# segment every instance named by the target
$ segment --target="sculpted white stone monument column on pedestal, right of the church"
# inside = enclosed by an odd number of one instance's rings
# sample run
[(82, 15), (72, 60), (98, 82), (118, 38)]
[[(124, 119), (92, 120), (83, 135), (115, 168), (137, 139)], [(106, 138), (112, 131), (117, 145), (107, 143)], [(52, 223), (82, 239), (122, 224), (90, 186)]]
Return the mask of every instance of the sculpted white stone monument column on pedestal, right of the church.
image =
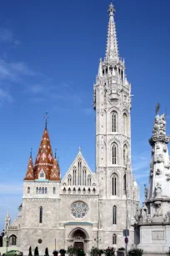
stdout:
[[(168, 252), (170, 247), (170, 156), (166, 134), (165, 114), (159, 115), (159, 105), (153, 125), (153, 136), (148, 188), (145, 186), (145, 202), (138, 209), (136, 219), (140, 228), (140, 244), (145, 252)], [(160, 255), (160, 254), (159, 254)]]

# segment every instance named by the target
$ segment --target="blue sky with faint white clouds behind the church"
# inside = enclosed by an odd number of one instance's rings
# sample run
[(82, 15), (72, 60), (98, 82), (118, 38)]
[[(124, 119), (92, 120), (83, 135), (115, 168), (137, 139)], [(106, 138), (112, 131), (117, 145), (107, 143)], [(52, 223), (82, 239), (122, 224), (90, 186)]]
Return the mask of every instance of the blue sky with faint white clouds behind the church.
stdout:
[[(3, 1), (0, 8), (0, 230), (17, 217), (30, 148), (35, 159), (48, 112), (62, 177), (78, 146), (95, 166), (92, 87), (107, 39), (108, 0)], [(148, 182), (155, 105), (170, 134), (170, 1), (114, 1), (120, 56), (133, 88), (133, 171)]]

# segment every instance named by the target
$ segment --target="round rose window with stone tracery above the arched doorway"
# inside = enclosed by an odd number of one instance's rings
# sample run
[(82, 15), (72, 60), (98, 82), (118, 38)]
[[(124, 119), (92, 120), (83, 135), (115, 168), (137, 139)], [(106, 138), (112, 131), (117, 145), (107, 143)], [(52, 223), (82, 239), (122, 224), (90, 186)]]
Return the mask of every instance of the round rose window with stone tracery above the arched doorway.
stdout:
[(71, 212), (75, 218), (83, 218), (87, 214), (87, 204), (85, 202), (73, 202)]

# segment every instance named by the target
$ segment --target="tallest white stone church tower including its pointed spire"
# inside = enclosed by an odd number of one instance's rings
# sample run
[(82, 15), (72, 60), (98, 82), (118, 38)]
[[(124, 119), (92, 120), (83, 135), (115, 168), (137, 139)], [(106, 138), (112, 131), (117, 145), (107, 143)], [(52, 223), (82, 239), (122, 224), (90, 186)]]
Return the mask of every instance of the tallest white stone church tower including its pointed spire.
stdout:
[(96, 173), (100, 184), (99, 228), (101, 235), (104, 229), (110, 231), (103, 246), (112, 243), (124, 245), (122, 230), (131, 228), (135, 208), (139, 203), (138, 185), (131, 167), (131, 84), (126, 78), (124, 60), (118, 54), (114, 12), (111, 3), (108, 9), (106, 55), (103, 61), (100, 59), (93, 89)]

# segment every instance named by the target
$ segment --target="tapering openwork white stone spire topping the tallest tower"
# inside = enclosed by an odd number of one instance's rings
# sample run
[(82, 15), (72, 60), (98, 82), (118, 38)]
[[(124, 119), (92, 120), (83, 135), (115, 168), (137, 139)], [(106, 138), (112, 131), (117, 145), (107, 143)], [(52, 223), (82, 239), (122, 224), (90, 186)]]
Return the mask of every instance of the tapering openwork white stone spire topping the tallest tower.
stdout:
[(109, 22), (108, 22), (108, 29), (107, 29), (107, 49), (106, 49), (105, 60), (107, 62), (110, 62), (113, 59), (118, 58), (117, 32), (116, 32), (116, 25), (114, 23), (115, 9), (112, 3), (110, 3), (109, 5), (108, 12), (109, 12)]

